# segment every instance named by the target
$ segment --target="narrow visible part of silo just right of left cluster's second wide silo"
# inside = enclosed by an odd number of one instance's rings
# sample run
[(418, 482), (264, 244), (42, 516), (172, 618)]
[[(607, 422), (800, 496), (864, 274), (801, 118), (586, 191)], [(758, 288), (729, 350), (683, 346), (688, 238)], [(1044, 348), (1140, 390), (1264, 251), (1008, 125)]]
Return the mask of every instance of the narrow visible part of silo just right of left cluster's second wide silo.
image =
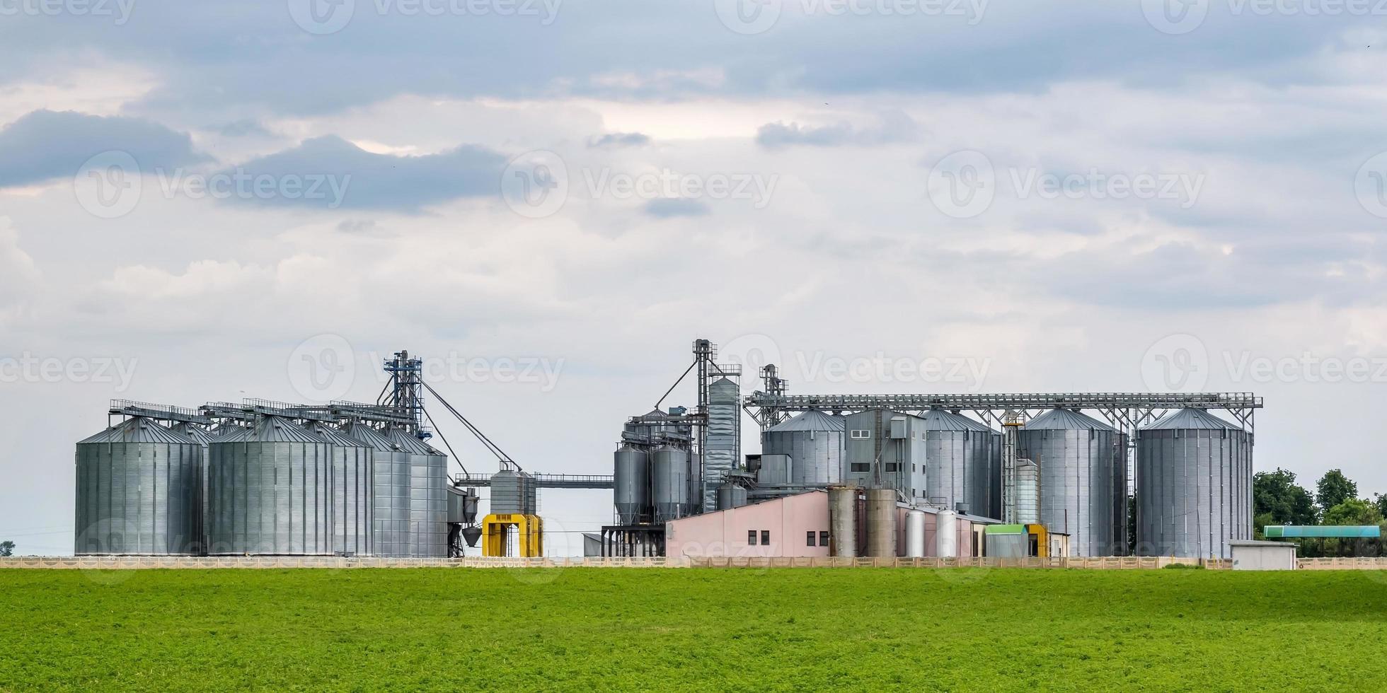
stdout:
[(323, 423), (309, 424), (307, 428), (331, 445), (333, 495), (329, 514), (333, 523), (333, 553), (373, 556), (376, 553), (374, 450), (368, 444)]

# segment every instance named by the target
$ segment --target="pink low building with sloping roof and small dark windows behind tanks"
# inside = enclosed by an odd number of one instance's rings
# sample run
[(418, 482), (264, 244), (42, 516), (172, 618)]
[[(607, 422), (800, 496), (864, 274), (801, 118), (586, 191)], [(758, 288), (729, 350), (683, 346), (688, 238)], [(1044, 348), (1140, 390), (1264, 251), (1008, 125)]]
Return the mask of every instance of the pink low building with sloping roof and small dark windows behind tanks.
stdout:
[[(935, 556), (936, 509), (921, 507), (925, 513), (925, 556)], [(908, 507), (897, 507), (896, 554), (906, 554), (906, 514)], [(857, 517), (857, 546), (867, 546), (865, 513)], [(958, 516), (958, 556), (981, 553), (985, 518)], [(829, 523), (828, 492), (810, 491), (795, 496), (671, 520), (664, 525), (664, 554), (674, 556), (732, 556), (732, 557), (813, 557), (828, 556)], [(861, 549), (859, 554), (864, 556)]]

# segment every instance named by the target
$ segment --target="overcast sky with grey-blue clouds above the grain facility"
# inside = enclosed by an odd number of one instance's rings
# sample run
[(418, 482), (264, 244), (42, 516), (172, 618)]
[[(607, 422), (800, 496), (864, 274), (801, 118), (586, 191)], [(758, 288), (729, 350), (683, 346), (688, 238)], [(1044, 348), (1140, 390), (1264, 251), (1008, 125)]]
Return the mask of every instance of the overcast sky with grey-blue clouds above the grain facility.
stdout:
[(369, 401), (399, 348), (610, 473), (698, 337), (802, 394), (1257, 392), (1257, 468), (1387, 491), (1375, 4), (0, 0), (0, 541), (71, 553), (108, 399)]

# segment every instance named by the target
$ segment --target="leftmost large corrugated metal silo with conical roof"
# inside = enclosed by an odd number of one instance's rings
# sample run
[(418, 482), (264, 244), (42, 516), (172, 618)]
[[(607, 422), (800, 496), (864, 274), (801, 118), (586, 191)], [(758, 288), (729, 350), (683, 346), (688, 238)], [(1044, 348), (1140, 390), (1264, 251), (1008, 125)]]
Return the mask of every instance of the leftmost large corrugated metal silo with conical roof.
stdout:
[(78, 556), (196, 553), (203, 446), (132, 417), (76, 444)]

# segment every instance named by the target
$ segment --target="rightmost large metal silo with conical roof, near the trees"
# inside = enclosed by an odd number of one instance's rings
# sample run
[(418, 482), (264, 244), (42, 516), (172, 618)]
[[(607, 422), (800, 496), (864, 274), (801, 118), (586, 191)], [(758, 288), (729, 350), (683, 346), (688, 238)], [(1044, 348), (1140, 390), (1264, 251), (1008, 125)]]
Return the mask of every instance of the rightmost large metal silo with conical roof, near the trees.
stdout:
[(1252, 434), (1203, 409), (1137, 432), (1137, 552), (1229, 557), (1252, 538)]

